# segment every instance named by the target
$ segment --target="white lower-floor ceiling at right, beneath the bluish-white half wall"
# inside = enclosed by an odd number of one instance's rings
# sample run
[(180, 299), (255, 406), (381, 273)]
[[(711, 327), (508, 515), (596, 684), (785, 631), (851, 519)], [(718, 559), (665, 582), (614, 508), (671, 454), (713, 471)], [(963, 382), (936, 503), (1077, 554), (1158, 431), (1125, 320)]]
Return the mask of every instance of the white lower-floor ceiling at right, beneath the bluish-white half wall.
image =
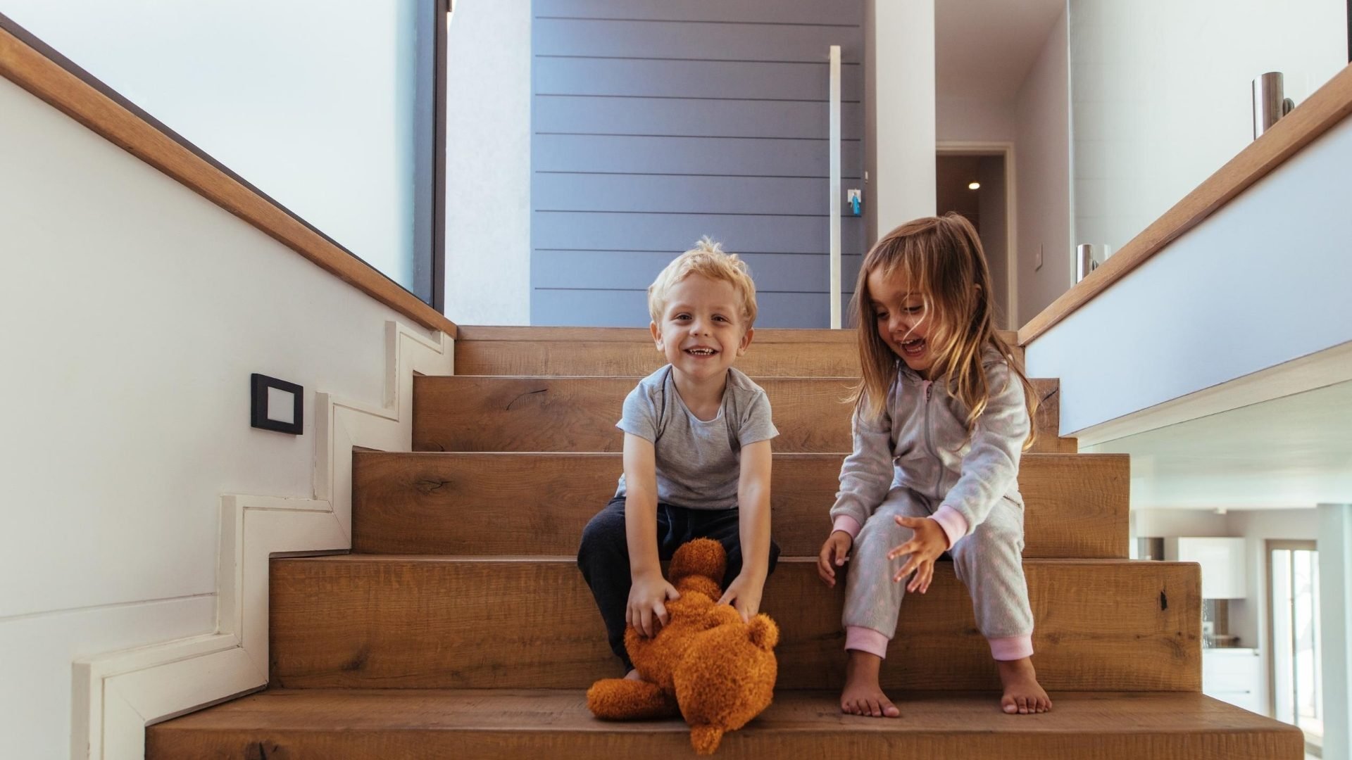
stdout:
[(1132, 508), (1352, 503), (1352, 381), (1083, 450), (1132, 454)]

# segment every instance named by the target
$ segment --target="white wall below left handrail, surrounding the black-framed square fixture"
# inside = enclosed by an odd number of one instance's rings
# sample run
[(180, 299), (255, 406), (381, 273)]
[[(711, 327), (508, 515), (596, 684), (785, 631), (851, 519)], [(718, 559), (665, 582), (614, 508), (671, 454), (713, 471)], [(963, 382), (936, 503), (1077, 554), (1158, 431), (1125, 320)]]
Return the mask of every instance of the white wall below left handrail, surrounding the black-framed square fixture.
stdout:
[[(72, 661), (212, 632), (224, 492), (311, 496), (315, 391), (400, 318), (0, 78), (0, 736), (66, 757)], [(306, 387), (249, 427), (249, 375)]]

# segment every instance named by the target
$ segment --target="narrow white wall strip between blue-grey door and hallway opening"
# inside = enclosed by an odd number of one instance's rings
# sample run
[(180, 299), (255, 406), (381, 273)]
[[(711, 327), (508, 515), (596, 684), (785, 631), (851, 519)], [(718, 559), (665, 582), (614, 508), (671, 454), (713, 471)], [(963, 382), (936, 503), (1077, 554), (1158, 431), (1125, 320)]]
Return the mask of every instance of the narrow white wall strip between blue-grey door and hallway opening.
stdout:
[(865, 169), (873, 203), (869, 241), (933, 216), (934, 1), (865, 0)]

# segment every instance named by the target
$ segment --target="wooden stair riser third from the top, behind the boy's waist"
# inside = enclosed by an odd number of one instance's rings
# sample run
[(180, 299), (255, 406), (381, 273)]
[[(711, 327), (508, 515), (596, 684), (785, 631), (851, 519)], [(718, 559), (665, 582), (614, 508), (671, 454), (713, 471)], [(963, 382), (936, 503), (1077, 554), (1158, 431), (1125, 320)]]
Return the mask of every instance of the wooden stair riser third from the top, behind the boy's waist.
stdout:
[[(844, 457), (775, 454), (772, 531), (784, 556), (817, 554)], [(575, 553), (622, 469), (615, 453), (356, 453), (353, 550)], [(1023, 454), (1023, 556), (1126, 559), (1128, 488), (1126, 454)]]

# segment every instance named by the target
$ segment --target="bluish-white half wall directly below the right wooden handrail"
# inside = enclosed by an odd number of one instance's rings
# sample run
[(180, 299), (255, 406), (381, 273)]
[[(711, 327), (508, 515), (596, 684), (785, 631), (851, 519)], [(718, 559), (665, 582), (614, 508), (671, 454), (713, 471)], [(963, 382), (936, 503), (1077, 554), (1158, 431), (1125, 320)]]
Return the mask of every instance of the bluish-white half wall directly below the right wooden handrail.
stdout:
[(1348, 165), (1352, 119), (1029, 343), (1061, 434), (1352, 341)]

